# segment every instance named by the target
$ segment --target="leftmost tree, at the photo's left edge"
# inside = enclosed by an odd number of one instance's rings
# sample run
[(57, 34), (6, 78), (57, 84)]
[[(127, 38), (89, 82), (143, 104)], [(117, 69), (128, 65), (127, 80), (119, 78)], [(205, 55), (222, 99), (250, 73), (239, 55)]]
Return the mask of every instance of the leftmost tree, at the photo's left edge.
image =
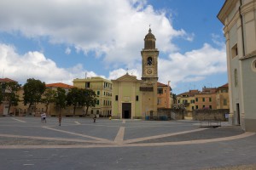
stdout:
[(5, 101), (9, 102), (8, 105), (8, 114), (11, 106), (18, 105), (19, 95), (17, 91), (20, 89), (20, 84), (18, 82), (5, 82), (5, 93), (3, 94), (3, 98)]

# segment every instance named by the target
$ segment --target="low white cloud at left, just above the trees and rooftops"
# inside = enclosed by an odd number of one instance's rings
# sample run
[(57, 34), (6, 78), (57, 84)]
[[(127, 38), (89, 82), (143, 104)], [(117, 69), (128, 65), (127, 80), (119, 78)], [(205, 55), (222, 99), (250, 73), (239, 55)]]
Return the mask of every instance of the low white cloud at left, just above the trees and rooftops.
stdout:
[(0, 44), (0, 68), (4, 70), (3, 77), (9, 77), (22, 84), (32, 77), (46, 83), (73, 84), (73, 79), (84, 78), (85, 72), (88, 77), (97, 76), (93, 71), (85, 71), (80, 64), (67, 69), (60, 68), (53, 60), (47, 59), (37, 51), (17, 54), (13, 46), (6, 44)]

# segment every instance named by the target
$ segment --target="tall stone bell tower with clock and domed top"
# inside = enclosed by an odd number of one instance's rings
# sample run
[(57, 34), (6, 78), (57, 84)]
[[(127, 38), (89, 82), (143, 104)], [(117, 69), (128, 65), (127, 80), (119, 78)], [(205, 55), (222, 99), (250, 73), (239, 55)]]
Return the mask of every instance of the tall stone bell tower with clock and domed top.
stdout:
[(155, 37), (149, 28), (148, 34), (144, 38), (144, 48), (142, 54), (142, 84), (140, 91), (143, 95), (143, 113), (149, 116), (157, 114), (157, 81), (158, 81), (158, 55), (155, 48)]

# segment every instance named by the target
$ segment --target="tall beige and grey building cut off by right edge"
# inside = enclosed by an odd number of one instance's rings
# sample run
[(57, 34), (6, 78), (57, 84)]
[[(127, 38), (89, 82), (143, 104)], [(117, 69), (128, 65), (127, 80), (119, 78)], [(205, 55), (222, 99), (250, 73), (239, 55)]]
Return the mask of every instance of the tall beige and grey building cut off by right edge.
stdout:
[(256, 0), (226, 0), (218, 13), (224, 25), (233, 125), (256, 132)]

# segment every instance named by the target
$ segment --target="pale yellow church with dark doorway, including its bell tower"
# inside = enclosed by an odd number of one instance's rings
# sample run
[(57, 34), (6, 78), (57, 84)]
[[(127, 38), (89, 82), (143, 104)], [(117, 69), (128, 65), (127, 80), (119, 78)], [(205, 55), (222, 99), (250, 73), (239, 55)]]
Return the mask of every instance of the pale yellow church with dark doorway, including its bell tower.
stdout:
[(128, 74), (112, 80), (113, 117), (142, 118), (145, 115), (157, 115), (159, 51), (155, 48), (155, 40), (149, 28), (144, 38), (144, 48), (141, 51), (142, 80), (137, 80), (137, 77)]

